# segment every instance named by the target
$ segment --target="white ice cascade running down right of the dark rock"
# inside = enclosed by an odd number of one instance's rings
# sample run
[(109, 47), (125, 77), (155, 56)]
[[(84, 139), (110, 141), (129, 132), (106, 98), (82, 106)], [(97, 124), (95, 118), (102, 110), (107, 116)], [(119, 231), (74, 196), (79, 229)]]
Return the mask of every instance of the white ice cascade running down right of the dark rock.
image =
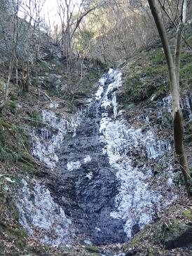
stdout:
[[(144, 168), (135, 166), (132, 151), (137, 150), (140, 154), (145, 151), (146, 157), (150, 160), (160, 158), (165, 152), (170, 151), (171, 146), (170, 141), (159, 140), (151, 127), (143, 133), (141, 128), (134, 128), (125, 119), (116, 119), (118, 116), (116, 90), (122, 84), (121, 72), (110, 70), (109, 81), (113, 82), (109, 83), (101, 104), (103, 110), (100, 121), (100, 142), (104, 144), (103, 154), (109, 157), (109, 163), (116, 170), (116, 177), (121, 183), (116, 196), (116, 210), (111, 216), (121, 218), (125, 222), (124, 230), (130, 238), (136, 225), (141, 229), (153, 220), (156, 210), (167, 205), (167, 202), (163, 203), (163, 196), (158, 191), (150, 189), (146, 181), (152, 176), (151, 170), (147, 170), (146, 166)], [(101, 91), (101, 88), (99, 90)], [(111, 101), (114, 106), (114, 116), (110, 117), (107, 106)], [(171, 111), (170, 107), (167, 107), (170, 101), (170, 97), (163, 100), (163, 111)], [(149, 122), (148, 119), (146, 122)], [(169, 203), (175, 199), (173, 194), (170, 197)]]

